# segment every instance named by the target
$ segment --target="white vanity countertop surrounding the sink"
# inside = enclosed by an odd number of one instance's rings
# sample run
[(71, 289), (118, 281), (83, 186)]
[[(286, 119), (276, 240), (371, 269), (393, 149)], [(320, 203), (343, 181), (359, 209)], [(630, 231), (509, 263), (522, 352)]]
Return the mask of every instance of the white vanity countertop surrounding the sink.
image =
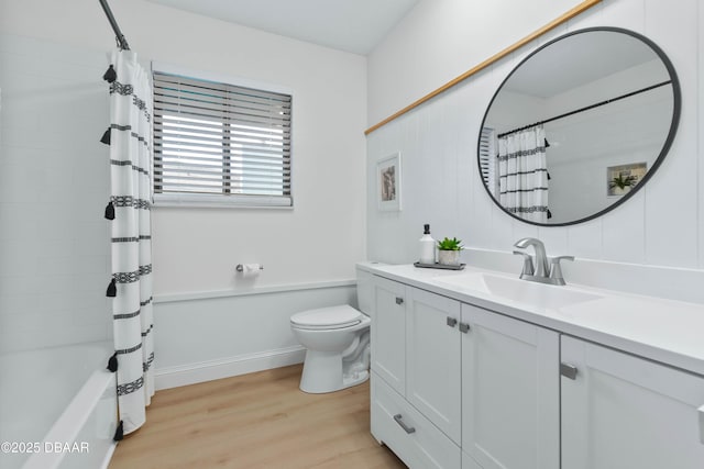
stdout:
[(585, 298), (593, 295), (594, 299), (540, 308), (458, 284), (462, 283), (462, 276), (468, 275), (482, 273), (505, 279), (516, 279), (517, 275), (470, 266), (463, 270), (373, 263), (358, 266), (391, 280), (704, 376), (702, 304), (568, 284), (540, 287), (566, 289), (569, 292), (584, 293)]

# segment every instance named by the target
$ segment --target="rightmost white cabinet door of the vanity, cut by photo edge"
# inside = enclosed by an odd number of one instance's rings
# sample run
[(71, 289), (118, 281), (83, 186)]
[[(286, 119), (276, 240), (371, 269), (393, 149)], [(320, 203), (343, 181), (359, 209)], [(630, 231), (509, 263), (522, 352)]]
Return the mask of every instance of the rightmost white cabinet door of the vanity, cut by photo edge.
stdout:
[(563, 469), (704, 468), (703, 377), (569, 336), (561, 361)]

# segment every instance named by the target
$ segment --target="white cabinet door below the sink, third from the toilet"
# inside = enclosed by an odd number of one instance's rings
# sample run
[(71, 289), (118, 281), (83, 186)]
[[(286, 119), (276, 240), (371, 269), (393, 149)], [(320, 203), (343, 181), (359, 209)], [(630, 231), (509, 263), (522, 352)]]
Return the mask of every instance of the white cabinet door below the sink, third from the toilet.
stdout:
[(469, 304), (461, 322), (462, 450), (483, 469), (558, 469), (559, 334)]

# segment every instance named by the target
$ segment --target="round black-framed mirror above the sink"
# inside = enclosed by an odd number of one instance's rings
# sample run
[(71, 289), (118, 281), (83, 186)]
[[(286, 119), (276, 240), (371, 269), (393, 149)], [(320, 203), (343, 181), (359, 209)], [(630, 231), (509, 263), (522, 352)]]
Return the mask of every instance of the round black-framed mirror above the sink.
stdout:
[(664, 158), (680, 116), (672, 64), (631, 31), (575, 31), (504, 80), (479, 142), (484, 186), (506, 213), (562, 226), (629, 199)]

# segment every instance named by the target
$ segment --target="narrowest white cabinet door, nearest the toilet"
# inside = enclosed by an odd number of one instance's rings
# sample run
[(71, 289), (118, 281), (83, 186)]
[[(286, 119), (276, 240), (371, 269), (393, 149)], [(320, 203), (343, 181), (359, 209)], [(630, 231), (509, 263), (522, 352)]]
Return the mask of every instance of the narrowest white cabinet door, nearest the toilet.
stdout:
[(372, 370), (400, 395), (406, 394), (406, 287), (374, 278)]

